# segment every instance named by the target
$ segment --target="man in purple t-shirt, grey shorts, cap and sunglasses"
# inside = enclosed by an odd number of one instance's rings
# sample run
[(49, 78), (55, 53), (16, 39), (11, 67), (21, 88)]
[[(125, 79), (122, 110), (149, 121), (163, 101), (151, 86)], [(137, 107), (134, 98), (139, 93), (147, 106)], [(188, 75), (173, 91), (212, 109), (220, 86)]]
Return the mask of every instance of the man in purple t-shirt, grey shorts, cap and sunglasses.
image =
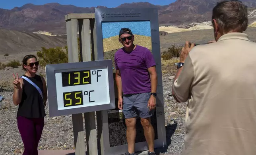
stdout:
[[(134, 155), (136, 117), (141, 118), (149, 148), (148, 155), (155, 155), (155, 135), (150, 122), (156, 104), (155, 60), (149, 49), (134, 45), (133, 41), (132, 31), (129, 28), (122, 28), (119, 32), (119, 42), (124, 47), (116, 51), (114, 55), (118, 108), (123, 110), (127, 127), (128, 151), (125, 155)], [(124, 94), (123, 97), (122, 94)]]

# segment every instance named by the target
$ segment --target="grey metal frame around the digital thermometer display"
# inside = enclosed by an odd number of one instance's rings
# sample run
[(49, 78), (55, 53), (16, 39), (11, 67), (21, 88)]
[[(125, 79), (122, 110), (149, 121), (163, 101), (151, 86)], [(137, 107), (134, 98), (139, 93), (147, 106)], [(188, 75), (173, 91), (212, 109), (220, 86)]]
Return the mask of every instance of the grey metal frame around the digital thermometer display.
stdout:
[[(97, 106), (86, 106), (79, 108), (71, 108), (65, 110), (58, 110), (57, 105), (57, 95), (56, 95), (56, 70), (86, 70), (87, 68), (97, 68), (97, 67), (107, 67), (108, 71), (108, 83), (109, 83), (109, 104), (97, 105)], [(114, 81), (113, 81), (113, 70), (112, 70), (112, 60), (98, 60), (98, 61), (87, 61), (87, 62), (72, 62), (63, 64), (47, 64), (46, 69), (46, 79), (47, 79), (47, 93), (49, 102), (49, 116), (61, 116), (61, 115), (71, 115), (77, 113), (95, 112), (98, 110), (108, 110), (115, 108), (115, 98), (114, 98)]]

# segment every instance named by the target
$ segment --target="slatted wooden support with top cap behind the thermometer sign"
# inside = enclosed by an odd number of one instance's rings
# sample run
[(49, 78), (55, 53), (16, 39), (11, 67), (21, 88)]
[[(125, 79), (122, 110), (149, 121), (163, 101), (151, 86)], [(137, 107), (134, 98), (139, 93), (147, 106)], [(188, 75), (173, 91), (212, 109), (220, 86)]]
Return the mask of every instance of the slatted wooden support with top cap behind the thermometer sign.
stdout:
[[(81, 61), (97, 59), (96, 26), (94, 13), (70, 13), (65, 16), (67, 25), (68, 62), (78, 62), (77, 21), (80, 40)], [(91, 30), (91, 34), (89, 33)], [(87, 153), (98, 155), (95, 112), (84, 113)], [(72, 115), (76, 155), (85, 155), (82, 113)], [(98, 129), (101, 128), (99, 123)], [(101, 136), (101, 139), (103, 137)], [(100, 153), (99, 153), (100, 154)]]

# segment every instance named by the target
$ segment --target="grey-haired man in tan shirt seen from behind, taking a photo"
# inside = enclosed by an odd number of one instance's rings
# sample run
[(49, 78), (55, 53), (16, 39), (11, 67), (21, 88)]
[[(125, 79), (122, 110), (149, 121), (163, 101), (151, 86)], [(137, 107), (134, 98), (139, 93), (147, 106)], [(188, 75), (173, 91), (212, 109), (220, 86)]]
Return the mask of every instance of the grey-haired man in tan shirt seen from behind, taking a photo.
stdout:
[(216, 42), (182, 49), (172, 94), (188, 100), (183, 155), (256, 155), (256, 43), (243, 33), (247, 16), (241, 2), (218, 3)]

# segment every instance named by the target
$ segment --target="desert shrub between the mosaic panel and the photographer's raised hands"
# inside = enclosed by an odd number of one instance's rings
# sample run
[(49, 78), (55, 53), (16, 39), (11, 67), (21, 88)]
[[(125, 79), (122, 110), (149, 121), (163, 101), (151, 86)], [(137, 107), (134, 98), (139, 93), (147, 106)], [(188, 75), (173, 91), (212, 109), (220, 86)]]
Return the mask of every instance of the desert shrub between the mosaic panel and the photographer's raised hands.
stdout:
[(181, 46), (175, 46), (175, 44), (173, 44), (171, 47), (168, 47), (167, 51), (163, 51), (161, 57), (163, 58), (163, 60), (180, 57), (181, 49)]

